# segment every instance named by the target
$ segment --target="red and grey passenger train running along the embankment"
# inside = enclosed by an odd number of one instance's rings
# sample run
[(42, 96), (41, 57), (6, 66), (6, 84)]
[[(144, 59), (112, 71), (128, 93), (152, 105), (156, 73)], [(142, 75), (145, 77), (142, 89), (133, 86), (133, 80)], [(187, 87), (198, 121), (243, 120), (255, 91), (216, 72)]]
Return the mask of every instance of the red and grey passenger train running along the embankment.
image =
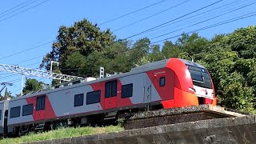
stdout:
[(40, 124), (48, 130), (63, 122), (102, 122), (145, 106), (200, 104), (217, 105), (210, 74), (198, 63), (170, 58), (124, 74), (1, 101), (0, 134), (21, 134)]

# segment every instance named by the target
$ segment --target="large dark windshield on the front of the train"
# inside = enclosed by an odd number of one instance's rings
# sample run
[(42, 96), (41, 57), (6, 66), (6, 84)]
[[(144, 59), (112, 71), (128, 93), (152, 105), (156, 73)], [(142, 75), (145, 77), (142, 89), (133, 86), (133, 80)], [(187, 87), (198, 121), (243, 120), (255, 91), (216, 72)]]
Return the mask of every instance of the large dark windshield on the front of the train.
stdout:
[(195, 86), (205, 87), (211, 89), (210, 76), (207, 73), (206, 69), (189, 66), (188, 69), (190, 71), (190, 75)]

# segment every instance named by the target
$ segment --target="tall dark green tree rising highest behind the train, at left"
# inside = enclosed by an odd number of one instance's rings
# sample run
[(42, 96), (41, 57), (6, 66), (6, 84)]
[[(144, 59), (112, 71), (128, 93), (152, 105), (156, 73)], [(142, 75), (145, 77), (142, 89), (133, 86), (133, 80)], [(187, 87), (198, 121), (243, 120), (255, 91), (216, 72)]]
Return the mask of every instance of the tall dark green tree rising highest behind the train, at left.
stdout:
[[(70, 63), (74, 62), (74, 56), (78, 56), (79, 53), (87, 57), (94, 51), (102, 51), (113, 44), (114, 38), (109, 29), (102, 31), (97, 24), (92, 24), (86, 19), (75, 22), (74, 26), (61, 26), (57, 40), (53, 43), (51, 52), (43, 58), (41, 66), (46, 66), (46, 70), (50, 70), (50, 61), (57, 61), (62, 74), (79, 76), (78, 70), (66, 70), (70, 68)], [(83, 64), (84, 62), (77, 63), (75, 67)]]

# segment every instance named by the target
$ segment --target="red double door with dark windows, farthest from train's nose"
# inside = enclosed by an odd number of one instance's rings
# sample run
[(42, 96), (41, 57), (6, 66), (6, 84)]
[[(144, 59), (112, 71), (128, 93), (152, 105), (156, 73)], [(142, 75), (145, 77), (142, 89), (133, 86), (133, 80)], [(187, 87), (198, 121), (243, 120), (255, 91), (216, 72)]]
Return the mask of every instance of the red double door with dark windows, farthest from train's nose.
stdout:
[(45, 95), (37, 97), (35, 120), (42, 120), (45, 118), (45, 104), (46, 104)]

